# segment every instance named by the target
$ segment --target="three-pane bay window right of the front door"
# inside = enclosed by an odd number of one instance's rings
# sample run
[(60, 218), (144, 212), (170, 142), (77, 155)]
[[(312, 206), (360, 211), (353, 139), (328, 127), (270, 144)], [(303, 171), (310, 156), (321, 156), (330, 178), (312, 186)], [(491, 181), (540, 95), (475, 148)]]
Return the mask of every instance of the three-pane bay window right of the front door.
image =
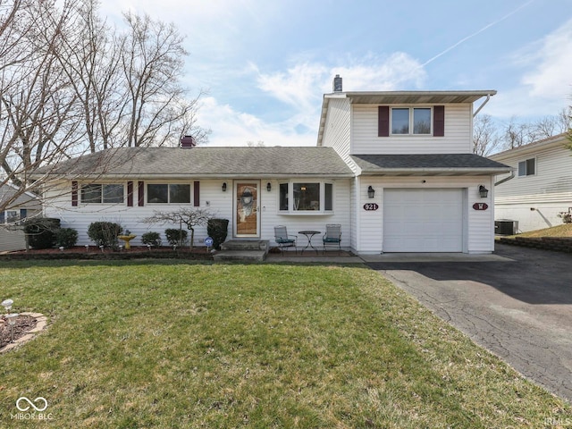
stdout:
[(280, 184), (282, 212), (327, 212), (332, 209), (332, 183), (292, 181)]

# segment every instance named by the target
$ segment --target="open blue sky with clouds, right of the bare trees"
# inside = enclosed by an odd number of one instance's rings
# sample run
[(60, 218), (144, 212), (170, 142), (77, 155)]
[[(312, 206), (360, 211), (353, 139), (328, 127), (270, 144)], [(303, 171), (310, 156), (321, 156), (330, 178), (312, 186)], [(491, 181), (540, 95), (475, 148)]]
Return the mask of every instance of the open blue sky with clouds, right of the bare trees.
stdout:
[[(500, 124), (572, 105), (572, 0), (102, 0), (174, 22), (209, 146), (314, 146), (324, 93), (496, 89)], [(478, 103), (478, 102), (477, 102)]]

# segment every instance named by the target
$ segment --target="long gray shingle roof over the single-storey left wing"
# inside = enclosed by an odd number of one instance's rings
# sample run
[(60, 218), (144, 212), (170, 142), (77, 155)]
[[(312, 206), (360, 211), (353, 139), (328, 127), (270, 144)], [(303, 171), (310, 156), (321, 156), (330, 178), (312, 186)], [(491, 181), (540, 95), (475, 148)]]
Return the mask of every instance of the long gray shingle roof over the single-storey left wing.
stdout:
[(123, 147), (80, 156), (37, 173), (161, 177), (351, 176), (330, 147)]

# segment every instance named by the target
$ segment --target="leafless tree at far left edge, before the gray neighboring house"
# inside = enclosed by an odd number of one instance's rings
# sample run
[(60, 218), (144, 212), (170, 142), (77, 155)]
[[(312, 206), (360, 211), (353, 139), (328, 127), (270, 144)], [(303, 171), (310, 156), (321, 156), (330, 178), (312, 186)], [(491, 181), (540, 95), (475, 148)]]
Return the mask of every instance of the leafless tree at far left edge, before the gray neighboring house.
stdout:
[[(78, 141), (75, 97), (54, 55), (69, 20), (68, 5), (16, 4), (17, 21), (0, 34), (0, 46), (8, 38), (16, 51), (0, 56), (0, 185), (19, 185), (14, 198), (26, 190), (30, 171), (72, 156)], [(8, 203), (0, 201), (0, 210)]]

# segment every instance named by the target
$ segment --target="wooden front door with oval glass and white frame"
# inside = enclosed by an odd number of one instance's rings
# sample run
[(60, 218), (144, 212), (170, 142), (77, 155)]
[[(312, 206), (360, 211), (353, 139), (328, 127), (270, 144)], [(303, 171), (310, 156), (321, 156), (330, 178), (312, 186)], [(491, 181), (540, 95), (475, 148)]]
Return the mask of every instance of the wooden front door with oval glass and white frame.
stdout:
[(234, 236), (260, 237), (259, 181), (237, 181), (234, 185)]

